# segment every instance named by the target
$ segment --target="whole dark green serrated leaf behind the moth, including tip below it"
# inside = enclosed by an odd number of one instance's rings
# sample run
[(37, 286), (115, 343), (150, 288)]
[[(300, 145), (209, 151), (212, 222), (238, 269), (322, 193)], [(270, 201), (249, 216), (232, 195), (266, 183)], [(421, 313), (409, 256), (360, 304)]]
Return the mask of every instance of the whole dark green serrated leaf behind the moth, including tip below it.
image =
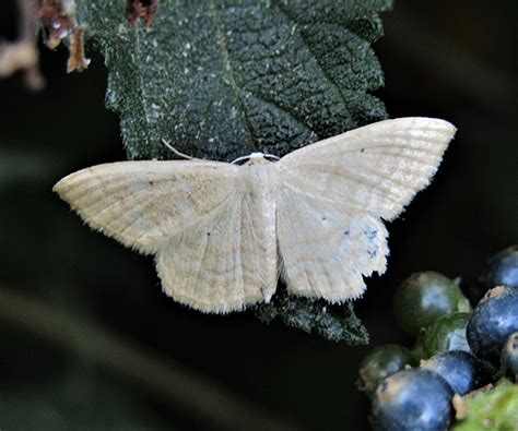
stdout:
[[(130, 159), (282, 156), (387, 117), (370, 48), (391, 0), (162, 0), (151, 26), (122, 1), (78, 1), (78, 21), (108, 69)], [(280, 296), (256, 309), (330, 339), (367, 343), (351, 303)]]

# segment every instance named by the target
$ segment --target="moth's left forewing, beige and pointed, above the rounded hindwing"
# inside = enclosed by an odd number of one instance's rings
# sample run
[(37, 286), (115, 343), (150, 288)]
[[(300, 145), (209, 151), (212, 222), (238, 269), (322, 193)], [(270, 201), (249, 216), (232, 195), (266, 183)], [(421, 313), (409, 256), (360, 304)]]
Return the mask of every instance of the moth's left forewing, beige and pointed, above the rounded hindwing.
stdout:
[(150, 254), (235, 193), (237, 167), (217, 161), (119, 161), (82, 169), (54, 191), (94, 229)]

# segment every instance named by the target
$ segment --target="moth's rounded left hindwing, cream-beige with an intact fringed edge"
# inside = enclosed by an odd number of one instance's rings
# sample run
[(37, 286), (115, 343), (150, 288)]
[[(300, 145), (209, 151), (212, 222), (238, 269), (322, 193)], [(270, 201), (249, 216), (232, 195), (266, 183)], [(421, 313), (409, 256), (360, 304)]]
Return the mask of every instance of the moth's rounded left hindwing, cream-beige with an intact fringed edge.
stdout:
[(264, 241), (252, 207), (249, 194), (236, 193), (213, 215), (172, 236), (155, 259), (164, 291), (205, 312), (268, 302), (278, 284), (276, 250), (270, 248), (276, 244)]

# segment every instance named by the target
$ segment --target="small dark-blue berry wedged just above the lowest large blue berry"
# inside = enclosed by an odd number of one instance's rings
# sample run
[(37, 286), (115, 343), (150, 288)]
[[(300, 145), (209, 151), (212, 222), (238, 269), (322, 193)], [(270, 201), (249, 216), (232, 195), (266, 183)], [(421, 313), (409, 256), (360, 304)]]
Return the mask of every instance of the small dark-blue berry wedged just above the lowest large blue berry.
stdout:
[(459, 395), (466, 395), (491, 382), (491, 375), (482, 363), (473, 355), (462, 350), (436, 355), (421, 361), (421, 368), (439, 374)]

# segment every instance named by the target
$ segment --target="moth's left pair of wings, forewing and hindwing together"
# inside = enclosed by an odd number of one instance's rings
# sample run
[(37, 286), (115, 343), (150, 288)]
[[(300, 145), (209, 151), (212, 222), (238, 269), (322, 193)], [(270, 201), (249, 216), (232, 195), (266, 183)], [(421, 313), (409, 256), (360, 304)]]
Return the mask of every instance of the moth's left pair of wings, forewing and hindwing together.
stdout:
[(245, 184), (236, 165), (143, 160), (86, 168), (54, 190), (93, 228), (155, 253), (175, 300), (228, 312), (269, 300), (278, 280), (276, 249)]

